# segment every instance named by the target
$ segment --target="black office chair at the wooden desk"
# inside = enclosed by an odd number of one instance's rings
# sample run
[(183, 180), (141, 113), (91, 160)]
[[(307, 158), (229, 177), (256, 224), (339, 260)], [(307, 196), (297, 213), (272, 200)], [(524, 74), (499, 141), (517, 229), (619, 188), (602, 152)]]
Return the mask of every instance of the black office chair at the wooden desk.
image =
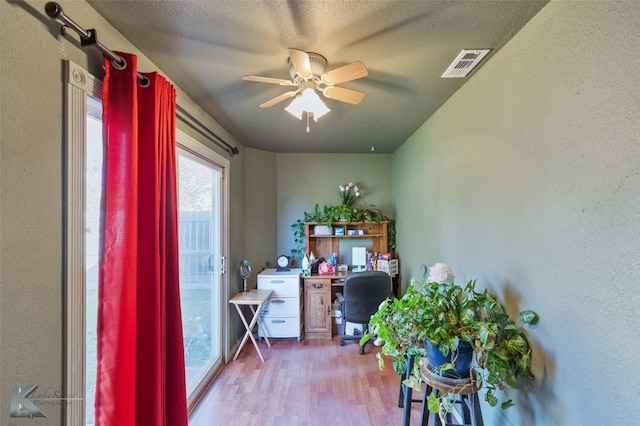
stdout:
[[(342, 320), (361, 325), (360, 333), (354, 336), (340, 337), (340, 346), (344, 346), (346, 340), (360, 340), (362, 334), (369, 328), (371, 315), (378, 311), (378, 307), (388, 297), (393, 297), (391, 292), (391, 277), (382, 271), (354, 272), (347, 275), (344, 280), (342, 293), (336, 297), (340, 301)], [(346, 324), (345, 324), (346, 325)], [(360, 355), (364, 354), (364, 347), (368, 342), (360, 346)]]

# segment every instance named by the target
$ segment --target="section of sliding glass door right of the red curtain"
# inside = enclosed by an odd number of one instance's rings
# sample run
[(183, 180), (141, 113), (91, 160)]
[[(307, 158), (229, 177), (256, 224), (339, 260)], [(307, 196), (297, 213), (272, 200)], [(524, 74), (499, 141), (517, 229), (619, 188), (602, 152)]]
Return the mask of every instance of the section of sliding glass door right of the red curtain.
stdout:
[[(222, 366), (224, 167), (178, 145), (180, 298), (189, 403)], [(206, 154), (206, 152), (205, 152)], [(211, 153), (213, 155), (213, 153)]]

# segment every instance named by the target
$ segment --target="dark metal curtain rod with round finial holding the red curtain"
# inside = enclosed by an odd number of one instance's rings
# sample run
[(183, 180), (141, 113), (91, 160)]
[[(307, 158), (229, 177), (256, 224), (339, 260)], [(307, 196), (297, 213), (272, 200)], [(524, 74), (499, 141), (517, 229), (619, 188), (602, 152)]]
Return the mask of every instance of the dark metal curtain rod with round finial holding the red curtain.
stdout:
[[(123, 57), (116, 55), (113, 51), (107, 49), (102, 43), (98, 41), (96, 30), (94, 29), (85, 30), (80, 25), (76, 24), (73, 20), (71, 20), (69, 17), (67, 17), (64, 14), (64, 12), (62, 11), (62, 7), (58, 3), (52, 2), (52, 1), (48, 2), (44, 6), (44, 10), (50, 18), (55, 19), (56, 21), (60, 21), (62, 23), (63, 33), (64, 33), (64, 28), (71, 28), (73, 31), (75, 31), (80, 36), (80, 44), (82, 45), (82, 47), (86, 47), (86, 46), (96, 47), (98, 50), (102, 52), (103, 56), (109, 58), (111, 62), (114, 64), (114, 66), (119, 69), (123, 69), (127, 66), (127, 61), (125, 61)], [(147, 86), (149, 84), (149, 80), (140, 73), (138, 73), (138, 82), (142, 86)], [(180, 118), (183, 122), (188, 124), (191, 128), (196, 130), (198, 133), (200, 133), (201, 135), (203, 135), (204, 137), (206, 137), (216, 145), (220, 146), (221, 148), (224, 148), (225, 151), (227, 151), (229, 154), (236, 155), (240, 152), (237, 147), (232, 147), (231, 145), (226, 143), (220, 136), (218, 136), (215, 132), (213, 132), (207, 126), (205, 126), (200, 121), (198, 121), (195, 117), (189, 114), (180, 105), (176, 104), (176, 110), (179, 110), (181, 113), (181, 114), (176, 114), (178, 118)], [(187, 121), (187, 118), (191, 120), (191, 122)], [(213, 138), (203, 133), (200, 129), (196, 128), (194, 124), (197, 124), (200, 127), (202, 127), (207, 133), (209, 133), (209, 135), (213, 136)]]

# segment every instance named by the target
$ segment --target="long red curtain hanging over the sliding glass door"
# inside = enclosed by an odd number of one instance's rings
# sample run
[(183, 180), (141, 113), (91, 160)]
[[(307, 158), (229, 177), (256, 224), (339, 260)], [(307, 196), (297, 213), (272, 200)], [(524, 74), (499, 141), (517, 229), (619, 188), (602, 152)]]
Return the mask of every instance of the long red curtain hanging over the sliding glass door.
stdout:
[(105, 60), (95, 422), (186, 426), (178, 284), (175, 89)]

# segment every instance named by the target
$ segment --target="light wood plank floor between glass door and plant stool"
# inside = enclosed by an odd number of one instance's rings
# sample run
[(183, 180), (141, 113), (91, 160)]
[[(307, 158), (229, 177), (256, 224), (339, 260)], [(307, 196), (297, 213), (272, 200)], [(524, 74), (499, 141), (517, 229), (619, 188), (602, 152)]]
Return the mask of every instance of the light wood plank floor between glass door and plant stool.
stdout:
[[(230, 361), (189, 418), (190, 426), (216, 425), (402, 425), (400, 379), (387, 362), (378, 368), (379, 348), (356, 342), (277, 340), (259, 342), (261, 362), (251, 342)], [(412, 404), (411, 424), (420, 424)]]

